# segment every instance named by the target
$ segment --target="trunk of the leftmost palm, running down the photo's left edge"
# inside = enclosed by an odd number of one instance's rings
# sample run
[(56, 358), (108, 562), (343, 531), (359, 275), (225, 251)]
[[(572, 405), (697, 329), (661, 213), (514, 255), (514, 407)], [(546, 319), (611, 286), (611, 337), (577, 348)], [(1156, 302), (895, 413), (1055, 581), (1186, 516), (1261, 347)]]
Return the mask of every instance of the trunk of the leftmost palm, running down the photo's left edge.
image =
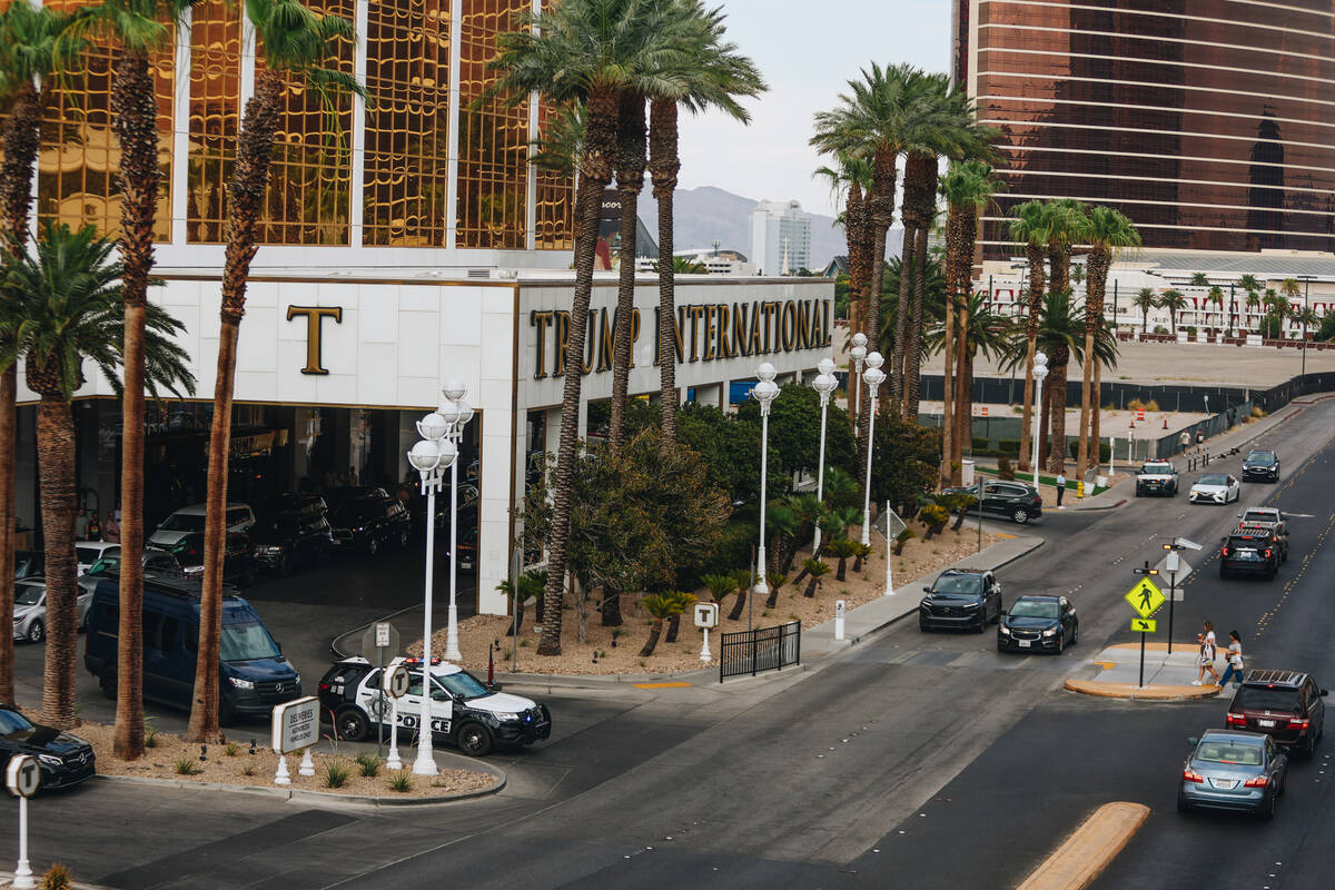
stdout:
[[(31, 81), (15, 92), (0, 135), (0, 254), (19, 251), (28, 240), (32, 167), (37, 159), (41, 95)], [(0, 578), (13, 578), (13, 462), (16, 370), (0, 374)], [(13, 614), (13, 584), (0, 584), (0, 615)], [(0, 701), (12, 702), (13, 635), (0, 634)]]

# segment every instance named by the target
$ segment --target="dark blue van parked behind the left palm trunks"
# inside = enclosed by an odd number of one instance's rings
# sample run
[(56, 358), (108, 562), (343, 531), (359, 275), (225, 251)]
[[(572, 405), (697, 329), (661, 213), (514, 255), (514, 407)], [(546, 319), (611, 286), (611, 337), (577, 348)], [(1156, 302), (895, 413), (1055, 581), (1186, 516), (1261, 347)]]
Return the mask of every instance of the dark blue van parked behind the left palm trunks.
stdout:
[[(199, 652), (199, 595), (195, 579), (144, 579), (144, 698), (190, 710)], [(84, 667), (116, 698), (116, 638), (120, 627), (120, 580), (97, 583), (88, 610)], [(240, 596), (223, 594), (222, 697), (218, 717), (227, 726), (238, 717), (264, 717), (275, 705), (302, 695), (302, 678), (259, 614)]]

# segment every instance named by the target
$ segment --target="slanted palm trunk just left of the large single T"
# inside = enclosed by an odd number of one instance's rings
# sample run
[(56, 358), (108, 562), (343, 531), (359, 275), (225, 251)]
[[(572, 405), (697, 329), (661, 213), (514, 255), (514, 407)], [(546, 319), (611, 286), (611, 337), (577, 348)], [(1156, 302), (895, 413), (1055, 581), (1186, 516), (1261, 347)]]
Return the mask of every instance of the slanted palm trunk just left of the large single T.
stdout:
[(227, 251), (223, 259), (222, 326), (218, 335), (218, 376), (214, 420), (208, 432), (208, 488), (204, 504), (204, 587), (199, 599), (199, 658), (190, 711), (190, 742), (220, 738), (220, 642), (223, 614), (223, 555), (226, 552), (227, 456), (232, 432), (232, 388), (236, 380), (236, 340), (246, 314), (246, 282), (255, 258), (259, 216), (268, 189), (274, 136), (279, 124), (283, 76), (264, 71), (246, 103), (236, 165), (230, 185)]

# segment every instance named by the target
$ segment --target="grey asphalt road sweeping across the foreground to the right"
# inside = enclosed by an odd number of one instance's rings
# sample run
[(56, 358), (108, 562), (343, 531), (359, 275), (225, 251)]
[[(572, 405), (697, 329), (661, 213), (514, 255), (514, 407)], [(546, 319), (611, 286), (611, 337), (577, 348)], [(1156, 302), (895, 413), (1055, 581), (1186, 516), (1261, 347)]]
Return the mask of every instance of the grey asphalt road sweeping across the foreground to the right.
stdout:
[[(1268, 439), (1286, 482), (1244, 486), (1242, 506), (1311, 514), (1291, 522), (1280, 576), (1222, 582), (1216, 563), (1193, 560), (1179, 640), (1212, 618), (1222, 632), (1243, 631), (1252, 667), (1335, 678), (1326, 606), (1335, 556), (1324, 546), (1335, 512), (1323, 494), (1335, 483), (1332, 420), (1335, 403), (1319, 403), (1276, 427)], [(1007, 603), (1071, 595), (1081, 642), (1064, 656), (1001, 655), (991, 632), (925, 635), (900, 622), (801, 673), (545, 697), (553, 739), (493, 758), (510, 783), (491, 798), (318, 810), (92, 783), (35, 802), (33, 858), (115, 887), (1005, 887), (1093, 807), (1136, 801), (1151, 819), (1099, 887), (1224, 875), (1247, 887), (1326, 887), (1335, 851), (1323, 841), (1335, 823), (1320, 770), (1335, 749), (1294, 765), (1274, 823), (1181, 817), (1185, 737), (1219, 725), (1226, 703), (1061, 690), (1104, 642), (1132, 638), (1121, 603), (1131, 567), (1157, 560), (1173, 535), (1208, 552), (1235, 514), (1185, 498), (1047, 514), (1036, 531), (1048, 544), (1000, 575)], [(13, 837), (13, 818), (12, 807), (0, 813), (0, 835)]]

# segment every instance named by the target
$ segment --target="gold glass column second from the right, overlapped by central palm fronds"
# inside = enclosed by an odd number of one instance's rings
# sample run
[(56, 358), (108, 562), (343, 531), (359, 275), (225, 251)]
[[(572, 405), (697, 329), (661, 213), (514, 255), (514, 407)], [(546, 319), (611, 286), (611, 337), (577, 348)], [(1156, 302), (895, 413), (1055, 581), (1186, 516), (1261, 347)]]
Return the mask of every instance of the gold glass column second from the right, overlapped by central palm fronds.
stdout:
[(522, 250), (529, 179), (529, 103), (471, 104), (495, 80), (497, 35), (525, 27), (531, 0), (459, 0), (458, 246)]

